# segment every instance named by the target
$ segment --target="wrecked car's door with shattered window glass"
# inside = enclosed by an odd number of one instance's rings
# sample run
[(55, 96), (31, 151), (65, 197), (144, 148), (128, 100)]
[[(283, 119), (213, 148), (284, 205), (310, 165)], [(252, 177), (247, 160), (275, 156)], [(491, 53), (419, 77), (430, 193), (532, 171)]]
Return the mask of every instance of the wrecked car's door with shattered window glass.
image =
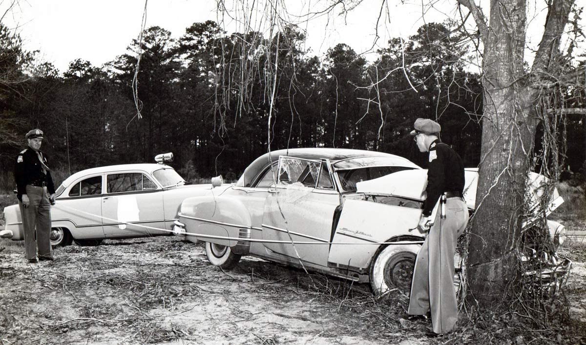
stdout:
[(272, 192), (264, 206), (263, 240), (287, 243), (265, 243), (265, 247), (326, 267), (333, 215), (340, 204), (329, 163), (281, 156)]

